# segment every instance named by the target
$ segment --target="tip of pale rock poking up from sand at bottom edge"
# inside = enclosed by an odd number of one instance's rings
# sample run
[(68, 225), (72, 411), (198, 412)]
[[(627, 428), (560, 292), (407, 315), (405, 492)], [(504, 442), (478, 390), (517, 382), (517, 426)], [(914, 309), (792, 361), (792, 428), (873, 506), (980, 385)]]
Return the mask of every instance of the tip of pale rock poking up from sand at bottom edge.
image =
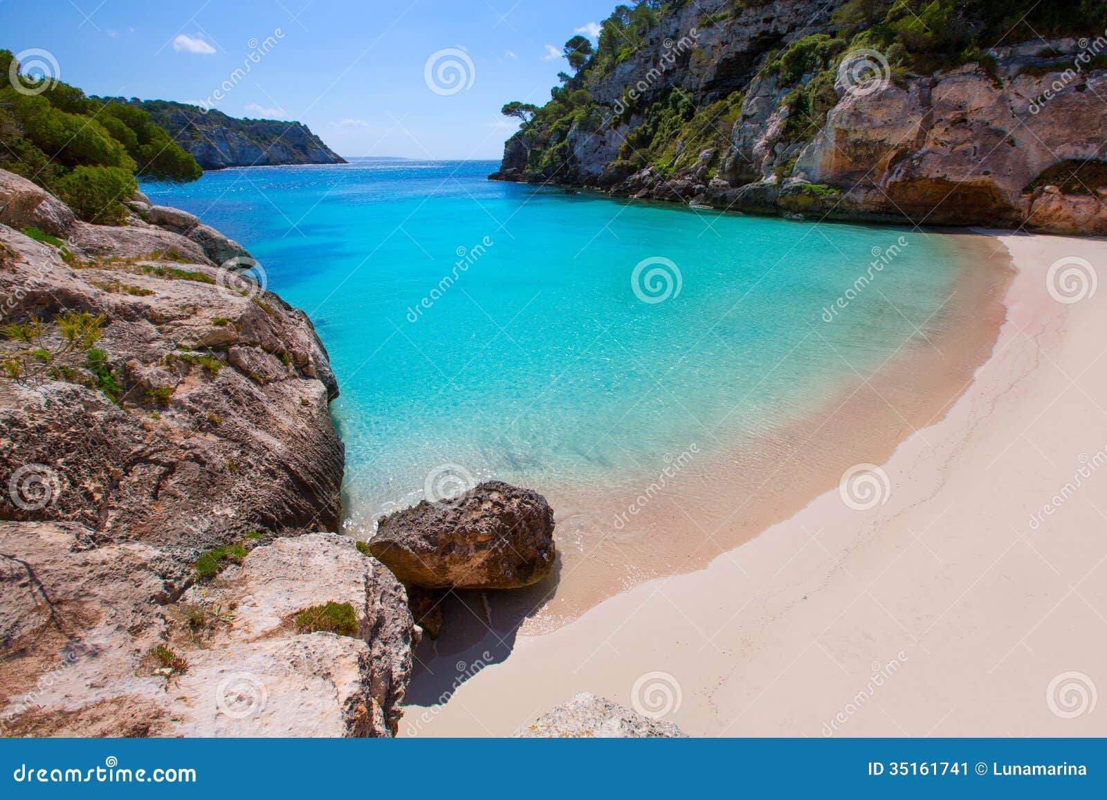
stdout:
[(581, 692), (568, 703), (547, 711), (517, 736), (521, 738), (679, 738), (684, 734), (672, 723), (643, 717), (606, 697)]

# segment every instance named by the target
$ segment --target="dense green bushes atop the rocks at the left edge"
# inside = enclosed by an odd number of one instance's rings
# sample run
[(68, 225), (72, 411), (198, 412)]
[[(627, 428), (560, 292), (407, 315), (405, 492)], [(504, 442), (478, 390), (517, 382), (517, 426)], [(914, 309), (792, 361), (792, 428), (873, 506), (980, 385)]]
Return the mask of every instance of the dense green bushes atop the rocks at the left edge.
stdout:
[(120, 222), (145, 176), (195, 180), (196, 160), (141, 108), (103, 103), (60, 81), (15, 76), (0, 50), (0, 168), (64, 200), (81, 219)]

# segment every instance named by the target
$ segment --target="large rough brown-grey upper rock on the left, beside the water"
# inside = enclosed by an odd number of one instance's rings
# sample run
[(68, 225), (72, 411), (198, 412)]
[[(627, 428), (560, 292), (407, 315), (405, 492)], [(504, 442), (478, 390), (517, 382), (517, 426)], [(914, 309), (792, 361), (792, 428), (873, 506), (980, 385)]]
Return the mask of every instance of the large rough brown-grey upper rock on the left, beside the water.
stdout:
[[(106, 245), (115, 233), (95, 236)], [(37, 314), (49, 325), (65, 310), (103, 314), (96, 346), (118, 387), (113, 402), (79, 382), (0, 378), (0, 481), (31, 464), (52, 470), (59, 486), (49, 505), (30, 510), (3, 492), (0, 518), (81, 522), (97, 542), (186, 551), (248, 530), (338, 524), (333, 376), (304, 316), (271, 293), (220, 285), (219, 270), (205, 263), (73, 269), (55, 248), (10, 228), (0, 227), (0, 242), (18, 253), (0, 271), (0, 297), (17, 299), (7, 318)], [(123, 248), (131, 252), (128, 240)]]

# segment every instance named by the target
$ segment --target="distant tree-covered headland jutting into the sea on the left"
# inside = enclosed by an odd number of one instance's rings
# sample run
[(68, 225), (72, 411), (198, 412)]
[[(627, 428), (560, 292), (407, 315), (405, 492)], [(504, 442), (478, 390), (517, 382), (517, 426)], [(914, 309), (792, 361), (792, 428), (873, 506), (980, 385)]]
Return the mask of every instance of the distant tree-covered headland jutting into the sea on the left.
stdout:
[(278, 164), (345, 164), (299, 122), (236, 120), (220, 111), (164, 100), (125, 101), (138, 105), (169, 132), (205, 169)]

